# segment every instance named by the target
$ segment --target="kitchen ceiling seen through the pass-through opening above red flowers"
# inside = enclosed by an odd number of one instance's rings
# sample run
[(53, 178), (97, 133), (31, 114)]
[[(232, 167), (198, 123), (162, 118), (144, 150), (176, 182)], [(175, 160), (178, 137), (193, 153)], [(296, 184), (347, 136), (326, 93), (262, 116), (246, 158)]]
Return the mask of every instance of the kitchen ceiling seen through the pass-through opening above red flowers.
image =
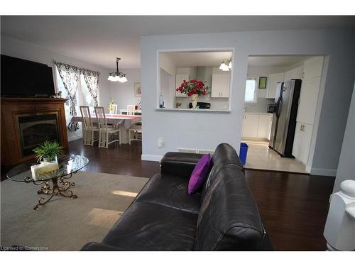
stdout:
[(175, 67), (219, 67), (233, 52), (163, 52)]

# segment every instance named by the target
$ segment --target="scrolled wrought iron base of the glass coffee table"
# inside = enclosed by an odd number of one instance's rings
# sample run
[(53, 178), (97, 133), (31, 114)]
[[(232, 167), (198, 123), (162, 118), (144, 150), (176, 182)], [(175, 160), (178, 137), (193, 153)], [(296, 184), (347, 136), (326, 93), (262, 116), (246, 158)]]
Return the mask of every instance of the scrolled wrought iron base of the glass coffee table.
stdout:
[[(40, 197), (38, 199), (38, 204), (34, 206), (34, 210), (38, 210), (40, 205), (46, 204), (50, 199), (53, 198), (53, 196), (65, 196), (66, 198), (73, 198), (77, 199), (77, 195), (74, 195), (70, 189), (70, 187), (74, 187), (75, 183), (66, 181), (65, 179), (70, 179), (72, 177), (72, 174), (70, 174), (69, 177), (58, 177), (58, 178), (53, 178), (50, 180), (34, 180), (31, 177), (26, 177), (25, 181), (27, 183), (32, 182), (36, 186), (40, 186), (44, 184), (40, 189), (38, 190), (37, 194), (45, 194), (49, 196), (48, 199), (45, 199), (43, 197)], [(52, 184), (50, 184), (52, 183)]]

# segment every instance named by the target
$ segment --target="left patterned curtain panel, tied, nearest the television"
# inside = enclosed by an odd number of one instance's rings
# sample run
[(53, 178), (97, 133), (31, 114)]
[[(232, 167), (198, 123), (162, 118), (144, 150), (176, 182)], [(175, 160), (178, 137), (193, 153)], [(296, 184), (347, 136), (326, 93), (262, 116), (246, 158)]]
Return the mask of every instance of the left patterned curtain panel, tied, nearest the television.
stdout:
[[(80, 79), (80, 68), (57, 61), (54, 61), (54, 63), (58, 67), (60, 78), (62, 79), (65, 90), (69, 96), (70, 116), (76, 116), (77, 111), (75, 110), (75, 94), (77, 93), (77, 85), (79, 84)], [(79, 126), (77, 122), (70, 121), (67, 128), (70, 131), (77, 131)]]

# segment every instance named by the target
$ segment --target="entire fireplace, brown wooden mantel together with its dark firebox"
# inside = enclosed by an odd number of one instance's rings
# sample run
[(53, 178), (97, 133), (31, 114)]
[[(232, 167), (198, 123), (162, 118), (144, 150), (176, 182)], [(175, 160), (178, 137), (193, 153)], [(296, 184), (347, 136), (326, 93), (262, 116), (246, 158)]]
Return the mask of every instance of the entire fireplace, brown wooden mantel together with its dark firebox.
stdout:
[(33, 159), (33, 148), (45, 140), (56, 140), (67, 150), (65, 101), (1, 98), (1, 165)]

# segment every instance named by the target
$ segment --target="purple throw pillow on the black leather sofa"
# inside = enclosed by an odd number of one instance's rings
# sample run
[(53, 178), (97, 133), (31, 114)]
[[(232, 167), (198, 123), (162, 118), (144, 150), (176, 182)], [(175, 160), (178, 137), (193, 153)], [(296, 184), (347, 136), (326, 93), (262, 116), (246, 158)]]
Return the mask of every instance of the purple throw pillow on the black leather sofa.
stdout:
[(207, 177), (207, 173), (209, 170), (209, 161), (211, 160), (211, 155), (206, 154), (201, 157), (201, 159), (197, 162), (194, 171), (191, 174), (189, 187), (187, 192), (192, 194), (195, 192), (199, 187), (201, 187), (204, 179)]

